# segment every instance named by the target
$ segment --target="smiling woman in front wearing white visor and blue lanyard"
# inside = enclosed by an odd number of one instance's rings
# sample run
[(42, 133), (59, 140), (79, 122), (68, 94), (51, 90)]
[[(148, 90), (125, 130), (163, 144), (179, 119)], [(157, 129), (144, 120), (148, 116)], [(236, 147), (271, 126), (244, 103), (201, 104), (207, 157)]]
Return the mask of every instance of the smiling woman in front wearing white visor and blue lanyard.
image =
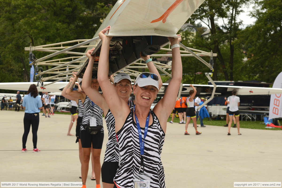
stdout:
[[(129, 106), (116, 94), (108, 79), (109, 44), (111, 37), (104, 33), (110, 26), (99, 33), (102, 47), (98, 64), (98, 81), (106, 102), (115, 118), (115, 131), (120, 150), (120, 166), (114, 177), (114, 187), (133, 188), (136, 176), (147, 174), (142, 178), (149, 182), (151, 188), (165, 187), (164, 168), (161, 162), (162, 146), (166, 132), (166, 124), (177, 97), (182, 79), (182, 63), (180, 57), (179, 38), (169, 37), (172, 45), (173, 75), (164, 97), (155, 105), (151, 104), (157, 97), (160, 78), (153, 73), (143, 72), (137, 76), (133, 93), (135, 107)], [(134, 185), (135, 183), (135, 185)], [(140, 182), (139, 182), (140, 183)], [(140, 184), (139, 184), (140, 185)]]

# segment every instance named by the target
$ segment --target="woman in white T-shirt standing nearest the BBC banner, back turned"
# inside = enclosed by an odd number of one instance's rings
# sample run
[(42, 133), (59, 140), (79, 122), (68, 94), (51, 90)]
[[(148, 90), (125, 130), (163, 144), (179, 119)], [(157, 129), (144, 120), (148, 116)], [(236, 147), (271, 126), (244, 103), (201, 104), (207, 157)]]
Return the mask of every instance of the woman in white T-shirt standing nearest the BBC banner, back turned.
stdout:
[(232, 96), (229, 96), (227, 98), (227, 103), (229, 104), (229, 123), (228, 123), (228, 134), (227, 135), (231, 135), (230, 134), (230, 128), (231, 128), (231, 124), (232, 124), (232, 116), (235, 116), (236, 119), (236, 123), (237, 123), (237, 129), (238, 129), (238, 135), (241, 135), (239, 129), (240, 129), (240, 122), (239, 122), (239, 109), (238, 106), (240, 105), (240, 98), (236, 96), (237, 94), (237, 90), (233, 89), (232, 91)]

